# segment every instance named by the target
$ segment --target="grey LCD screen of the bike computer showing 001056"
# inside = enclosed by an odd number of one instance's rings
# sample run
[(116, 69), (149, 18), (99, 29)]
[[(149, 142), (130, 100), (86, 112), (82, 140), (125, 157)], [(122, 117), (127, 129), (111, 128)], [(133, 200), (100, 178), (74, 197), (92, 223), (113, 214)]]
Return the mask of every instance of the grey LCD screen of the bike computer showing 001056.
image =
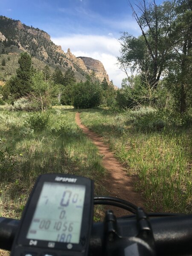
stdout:
[(85, 186), (45, 182), (27, 239), (79, 244)]

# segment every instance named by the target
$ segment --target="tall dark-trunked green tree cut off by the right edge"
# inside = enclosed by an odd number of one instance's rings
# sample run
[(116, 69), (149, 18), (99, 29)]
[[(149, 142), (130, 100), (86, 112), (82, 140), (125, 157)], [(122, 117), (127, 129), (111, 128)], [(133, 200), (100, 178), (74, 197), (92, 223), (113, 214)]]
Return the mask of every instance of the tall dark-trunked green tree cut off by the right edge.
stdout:
[(171, 38), (177, 38), (177, 42), (168, 80), (180, 113), (185, 113), (187, 104), (192, 104), (192, 1), (178, 0), (177, 4), (177, 19)]

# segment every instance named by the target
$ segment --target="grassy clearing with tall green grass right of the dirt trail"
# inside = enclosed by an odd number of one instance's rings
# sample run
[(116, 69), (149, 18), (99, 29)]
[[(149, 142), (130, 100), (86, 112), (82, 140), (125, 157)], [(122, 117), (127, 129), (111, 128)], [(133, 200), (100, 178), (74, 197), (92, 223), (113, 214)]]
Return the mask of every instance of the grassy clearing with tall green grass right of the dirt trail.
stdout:
[(105, 138), (128, 174), (139, 177), (136, 187), (149, 211), (192, 212), (191, 128), (142, 132), (129, 122), (130, 113), (99, 109), (83, 111), (81, 119)]

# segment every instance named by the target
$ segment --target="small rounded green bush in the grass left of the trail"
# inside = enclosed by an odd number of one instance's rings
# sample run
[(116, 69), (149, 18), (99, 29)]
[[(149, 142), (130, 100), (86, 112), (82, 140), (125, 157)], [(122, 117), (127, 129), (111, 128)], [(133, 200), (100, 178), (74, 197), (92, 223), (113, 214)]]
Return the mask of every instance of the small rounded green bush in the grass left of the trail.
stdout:
[(47, 127), (49, 123), (49, 115), (47, 113), (37, 112), (32, 113), (27, 119), (26, 124), (29, 125), (31, 129), (43, 130)]

